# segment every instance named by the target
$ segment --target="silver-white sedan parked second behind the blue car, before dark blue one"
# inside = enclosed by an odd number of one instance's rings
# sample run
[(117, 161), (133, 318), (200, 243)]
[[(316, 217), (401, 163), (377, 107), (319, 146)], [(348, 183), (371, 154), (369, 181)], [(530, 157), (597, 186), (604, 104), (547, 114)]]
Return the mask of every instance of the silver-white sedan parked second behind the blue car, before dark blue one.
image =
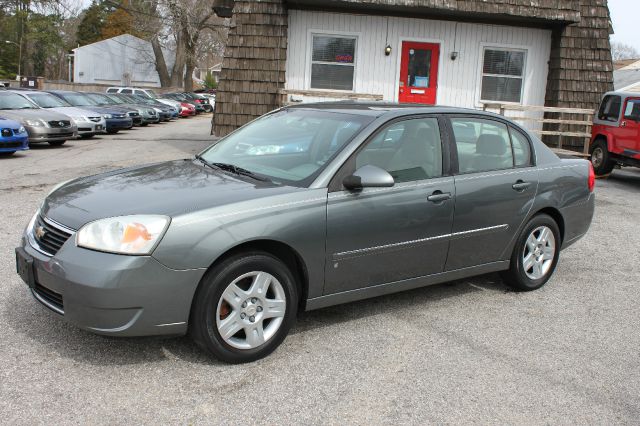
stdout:
[(92, 138), (95, 135), (106, 133), (107, 122), (100, 114), (71, 106), (71, 104), (63, 99), (47, 92), (19, 91), (16, 93), (24, 96), (40, 108), (59, 112), (71, 117), (78, 127), (78, 136), (81, 138)]

